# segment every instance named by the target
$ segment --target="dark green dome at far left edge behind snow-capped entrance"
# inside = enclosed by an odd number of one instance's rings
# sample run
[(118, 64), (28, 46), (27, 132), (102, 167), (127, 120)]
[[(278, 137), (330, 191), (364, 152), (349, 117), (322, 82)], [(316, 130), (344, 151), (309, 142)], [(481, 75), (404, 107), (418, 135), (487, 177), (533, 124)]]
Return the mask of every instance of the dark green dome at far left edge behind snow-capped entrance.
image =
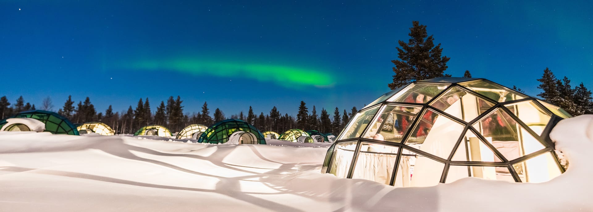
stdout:
[[(43, 124), (45, 124), (44, 132), (51, 132), (52, 134), (78, 135), (76, 126), (74, 126), (72, 122), (68, 121), (68, 119), (66, 119), (64, 116), (59, 115), (58, 113), (49, 112), (45, 110), (30, 110), (20, 112), (17, 115), (12, 116), (11, 118), (37, 119), (38, 121), (43, 122)], [(3, 128), (4, 125), (7, 124), (7, 119), (0, 121), (0, 128)], [(24, 128), (22, 129), (24, 130)]]

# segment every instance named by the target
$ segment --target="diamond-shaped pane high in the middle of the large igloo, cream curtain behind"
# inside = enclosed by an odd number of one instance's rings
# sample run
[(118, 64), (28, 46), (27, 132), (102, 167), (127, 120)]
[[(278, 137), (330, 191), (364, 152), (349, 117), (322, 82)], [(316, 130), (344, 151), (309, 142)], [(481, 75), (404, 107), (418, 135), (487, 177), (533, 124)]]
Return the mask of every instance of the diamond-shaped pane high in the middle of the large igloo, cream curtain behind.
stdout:
[(469, 122), (495, 104), (467, 93), (460, 88), (452, 87), (439, 99), (432, 102), (431, 105), (449, 115)]

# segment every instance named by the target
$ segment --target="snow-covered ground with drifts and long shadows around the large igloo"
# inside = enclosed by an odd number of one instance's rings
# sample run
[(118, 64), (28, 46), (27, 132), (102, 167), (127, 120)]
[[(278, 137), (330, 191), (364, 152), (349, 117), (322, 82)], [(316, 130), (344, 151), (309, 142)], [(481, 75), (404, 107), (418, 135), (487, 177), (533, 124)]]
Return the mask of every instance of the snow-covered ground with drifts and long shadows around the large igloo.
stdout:
[(0, 211), (593, 211), (593, 115), (551, 138), (570, 167), (549, 182), (394, 188), (320, 173), (323, 143), (0, 132)]

